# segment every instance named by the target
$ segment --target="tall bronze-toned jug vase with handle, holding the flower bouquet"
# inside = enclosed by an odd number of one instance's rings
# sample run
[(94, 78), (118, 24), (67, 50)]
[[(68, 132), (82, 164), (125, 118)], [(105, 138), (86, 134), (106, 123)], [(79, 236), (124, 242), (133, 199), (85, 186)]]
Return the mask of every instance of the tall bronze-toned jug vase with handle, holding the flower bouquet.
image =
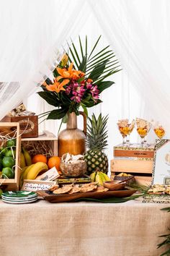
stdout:
[(84, 154), (86, 151), (86, 115), (79, 112), (84, 117), (84, 130), (77, 128), (77, 116), (74, 112), (68, 114), (67, 127), (58, 135), (58, 155), (65, 153), (72, 155)]

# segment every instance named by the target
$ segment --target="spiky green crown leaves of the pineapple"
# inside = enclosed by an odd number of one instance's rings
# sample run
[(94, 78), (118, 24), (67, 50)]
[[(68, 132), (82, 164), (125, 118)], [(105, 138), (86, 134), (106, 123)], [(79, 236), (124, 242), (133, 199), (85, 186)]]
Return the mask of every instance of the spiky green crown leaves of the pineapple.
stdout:
[(99, 114), (98, 119), (92, 114), (87, 124), (86, 146), (89, 150), (105, 150), (107, 148), (107, 116)]

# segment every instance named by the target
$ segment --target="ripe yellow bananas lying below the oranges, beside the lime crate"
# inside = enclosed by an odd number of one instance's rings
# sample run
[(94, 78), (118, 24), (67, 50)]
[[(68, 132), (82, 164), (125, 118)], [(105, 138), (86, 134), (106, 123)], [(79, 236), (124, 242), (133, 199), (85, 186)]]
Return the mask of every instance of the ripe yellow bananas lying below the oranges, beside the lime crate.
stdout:
[(30, 166), (24, 166), (20, 174), (20, 187), (22, 187), (24, 179), (35, 179), (42, 171), (48, 171), (46, 163), (37, 162)]

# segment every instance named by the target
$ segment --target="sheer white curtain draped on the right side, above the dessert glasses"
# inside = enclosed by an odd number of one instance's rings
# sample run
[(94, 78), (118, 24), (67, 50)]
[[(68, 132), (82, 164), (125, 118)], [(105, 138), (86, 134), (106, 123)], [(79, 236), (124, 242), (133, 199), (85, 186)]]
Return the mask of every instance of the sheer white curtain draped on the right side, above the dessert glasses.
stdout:
[[(169, 136), (169, 1), (101, 0), (90, 4), (120, 56), (128, 81), (143, 101), (140, 116), (161, 121)], [(107, 19), (102, 19), (103, 14)]]

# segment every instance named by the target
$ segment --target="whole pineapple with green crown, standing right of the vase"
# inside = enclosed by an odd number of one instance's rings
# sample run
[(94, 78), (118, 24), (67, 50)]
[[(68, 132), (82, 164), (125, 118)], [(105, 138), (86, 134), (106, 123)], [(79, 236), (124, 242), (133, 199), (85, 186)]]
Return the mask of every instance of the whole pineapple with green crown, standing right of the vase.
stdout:
[(92, 114), (89, 118), (90, 124), (87, 124), (86, 146), (89, 150), (86, 152), (85, 159), (87, 163), (87, 174), (99, 171), (105, 174), (108, 171), (107, 155), (103, 152), (107, 147), (107, 119), (108, 116), (99, 114), (98, 119)]

